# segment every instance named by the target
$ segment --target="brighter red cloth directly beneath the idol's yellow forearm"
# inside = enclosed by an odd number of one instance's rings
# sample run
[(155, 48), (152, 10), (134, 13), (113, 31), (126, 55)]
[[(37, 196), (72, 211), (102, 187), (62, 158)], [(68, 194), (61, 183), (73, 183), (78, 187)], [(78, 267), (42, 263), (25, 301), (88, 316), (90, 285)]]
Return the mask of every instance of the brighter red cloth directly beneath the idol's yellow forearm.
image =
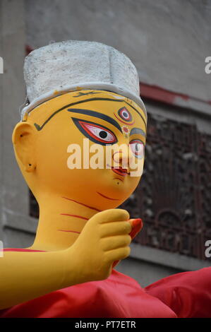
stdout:
[(0, 317), (175, 317), (132, 278), (112, 271), (109, 278), (51, 292), (3, 310)]

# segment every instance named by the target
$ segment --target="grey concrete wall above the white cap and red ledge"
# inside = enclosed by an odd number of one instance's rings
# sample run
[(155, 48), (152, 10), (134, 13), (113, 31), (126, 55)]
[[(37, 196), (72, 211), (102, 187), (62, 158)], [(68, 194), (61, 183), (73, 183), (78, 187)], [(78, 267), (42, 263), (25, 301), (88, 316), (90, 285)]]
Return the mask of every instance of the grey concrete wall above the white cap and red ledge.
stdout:
[(140, 81), (210, 100), (211, 1), (25, 0), (28, 45), (95, 40), (137, 66)]

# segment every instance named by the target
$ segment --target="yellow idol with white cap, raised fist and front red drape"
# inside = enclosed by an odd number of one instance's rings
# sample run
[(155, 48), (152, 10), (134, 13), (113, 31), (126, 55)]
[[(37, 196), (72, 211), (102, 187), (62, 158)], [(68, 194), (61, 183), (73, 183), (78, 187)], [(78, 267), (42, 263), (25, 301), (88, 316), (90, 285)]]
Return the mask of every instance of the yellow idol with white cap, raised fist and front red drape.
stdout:
[(117, 208), (143, 172), (135, 66), (107, 45), (68, 41), (30, 53), (24, 72), (29, 102), (13, 145), (40, 218), (31, 247), (4, 249), (0, 316), (176, 317), (156, 286), (114, 269), (142, 227)]

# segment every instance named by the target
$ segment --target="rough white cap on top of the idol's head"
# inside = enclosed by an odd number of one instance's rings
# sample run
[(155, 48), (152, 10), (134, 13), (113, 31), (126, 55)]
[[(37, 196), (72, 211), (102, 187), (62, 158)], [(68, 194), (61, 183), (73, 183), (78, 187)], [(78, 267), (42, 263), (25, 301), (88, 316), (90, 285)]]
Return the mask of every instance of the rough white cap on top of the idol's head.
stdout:
[(139, 78), (126, 55), (100, 42), (68, 40), (35, 49), (25, 58), (29, 104), (25, 113), (56, 95), (78, 90), (108, 90), (130, 98), (146, 114)]

